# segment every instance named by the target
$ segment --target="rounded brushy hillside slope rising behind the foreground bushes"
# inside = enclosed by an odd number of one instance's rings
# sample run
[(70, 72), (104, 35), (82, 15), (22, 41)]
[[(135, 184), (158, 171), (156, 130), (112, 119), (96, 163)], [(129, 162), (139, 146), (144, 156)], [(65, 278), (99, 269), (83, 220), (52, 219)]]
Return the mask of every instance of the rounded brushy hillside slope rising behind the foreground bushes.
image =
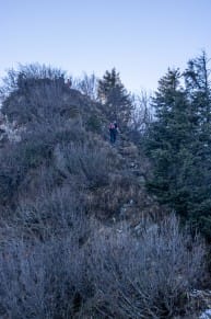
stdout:
[[(49, 89), (55, 88), (42, 84), (30, 88), (26, 95), (12, 93), (2, 109), (13, 123), (7, 126), (1, 122), (3, 205), (14, 204), (16, 197), (23, 201), (22, 194), (24, 201), (37, 196), (43, 191), (38, 185), (40, 170), (45, 170), (45, 174), (49, 171), (55, 175), (51, 191), (74, 180), (83, 189), (85, 209), (99, 218), (122, 218), (122, 214), (129, 217), (129, 210), (137, 215), (149, 207), (157, 209), (144, 190), (144, 157), (127, 138), (127, 132), (121, 132), (112, 147), (101, 104), (67, 88), (57, 88), (56, 96), (49, 96)], [(36, 90), (43, 90), (42, 103), (35, 99)], [(7, 157), (11, 162), (5, 168), (8, 181), (3, 172)]]

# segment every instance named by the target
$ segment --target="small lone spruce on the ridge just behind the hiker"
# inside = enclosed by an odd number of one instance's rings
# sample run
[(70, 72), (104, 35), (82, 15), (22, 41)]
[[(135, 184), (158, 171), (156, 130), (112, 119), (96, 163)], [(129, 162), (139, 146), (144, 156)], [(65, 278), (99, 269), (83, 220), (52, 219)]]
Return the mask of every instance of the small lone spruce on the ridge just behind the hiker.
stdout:
[(127, 126), (131, 118), (132, 103), (115, 68), (110, 72), (106, 71), (98, 81), (98, 100), (109, 121), (116, 119), (121, 127)]

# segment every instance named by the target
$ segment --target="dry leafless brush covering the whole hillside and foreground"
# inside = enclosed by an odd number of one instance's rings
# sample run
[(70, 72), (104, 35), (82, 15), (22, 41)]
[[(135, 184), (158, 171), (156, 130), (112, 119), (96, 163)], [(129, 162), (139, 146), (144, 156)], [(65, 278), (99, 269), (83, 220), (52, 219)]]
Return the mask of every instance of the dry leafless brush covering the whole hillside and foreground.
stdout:
[[(203, 241), (173, 215), (155, 223), (142, 214), (143, 186), (105, 140), (97, 103), (60, 80), (25, 83), (3, 107), (25, 129), (0, 148), (0, 317), (191, 314)], [(142, 216), (138, 232), (118, 221), (130, 202)]]

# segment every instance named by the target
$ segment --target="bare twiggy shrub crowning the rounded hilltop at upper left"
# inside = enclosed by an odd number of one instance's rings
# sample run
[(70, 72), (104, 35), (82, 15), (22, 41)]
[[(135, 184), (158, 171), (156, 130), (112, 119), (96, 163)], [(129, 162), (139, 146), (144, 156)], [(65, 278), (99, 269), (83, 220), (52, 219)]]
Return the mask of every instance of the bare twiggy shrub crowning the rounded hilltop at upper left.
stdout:
[(38, 64), (20, 66), (17, 71), (9, 71), (1, 88), (2, 113), (20, 124), (45, 118), (60, 111), (63, 91), (65, 78), (60, 70)]

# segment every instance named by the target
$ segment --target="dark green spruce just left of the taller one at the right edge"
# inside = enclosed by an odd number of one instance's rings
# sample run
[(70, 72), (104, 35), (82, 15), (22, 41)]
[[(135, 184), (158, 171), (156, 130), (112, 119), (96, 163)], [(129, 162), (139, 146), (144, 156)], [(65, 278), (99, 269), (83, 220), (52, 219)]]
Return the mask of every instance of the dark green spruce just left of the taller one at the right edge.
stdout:
[(160, 80), (153, 99), (155, 121), (151, 124), (146, 150), (153, 163), (149, 189), (161, 203), (169, 204), (180, 214), (186, 210), (187, 190), (183, 187), (181, 167), (189, 157), (191, 140), (188, 102), (180, 87), (179, 70), (168, 70)]

